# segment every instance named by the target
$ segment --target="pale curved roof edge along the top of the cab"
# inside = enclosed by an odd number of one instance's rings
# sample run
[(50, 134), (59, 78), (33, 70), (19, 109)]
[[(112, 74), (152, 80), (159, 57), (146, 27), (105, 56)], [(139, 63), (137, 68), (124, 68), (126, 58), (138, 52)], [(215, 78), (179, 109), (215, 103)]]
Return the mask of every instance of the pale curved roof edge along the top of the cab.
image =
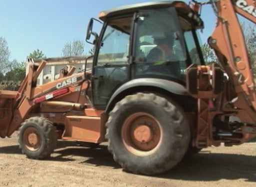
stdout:
[(126, 14), (126, 13), (133, 13), (133, 12), (136, 12), (141, 9), (171, 7), (171, 6), (174, 6), (174, 4), (176, 4), (176, 3), (181, 3), (184, 6), (188, 7), (188, 5), (185, 2), (179, 1), (179, 0), (176, 0), (176, 1), (162, 0), (162, 1), (142, 2), (142, 3), (119, 6), (119, 7), (101, 11), (99, 13), (99, 19), (104, 21), (108, 17), (122, 15), (122, 14)]

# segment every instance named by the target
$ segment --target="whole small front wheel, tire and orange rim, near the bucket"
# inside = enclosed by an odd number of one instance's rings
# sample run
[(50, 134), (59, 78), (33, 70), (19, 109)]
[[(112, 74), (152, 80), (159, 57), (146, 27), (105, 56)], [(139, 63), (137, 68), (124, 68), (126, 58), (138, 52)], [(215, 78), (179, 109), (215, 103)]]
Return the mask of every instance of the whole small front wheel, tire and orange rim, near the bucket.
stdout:
[(28, 158), (48, 158), (57, 144), (55, 127), (46, 118), (31, 117), (21, 124), (18, 142)]

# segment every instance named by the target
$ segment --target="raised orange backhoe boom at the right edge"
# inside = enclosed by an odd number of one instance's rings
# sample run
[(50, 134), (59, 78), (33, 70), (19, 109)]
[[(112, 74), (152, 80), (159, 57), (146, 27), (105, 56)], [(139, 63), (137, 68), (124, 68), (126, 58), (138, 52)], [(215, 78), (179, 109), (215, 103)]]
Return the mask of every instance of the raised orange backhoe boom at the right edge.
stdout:
[(236, 15), (239, 13), (256, 23), (254, 0), (211, 2), (217, 15), (217, 23), (208, 43), (218, 56), (236, 93), (236, 97), (232, 98), (234, 107), (244, 109), (253, 123), (256, 123), (255, 85), (243, 32)]

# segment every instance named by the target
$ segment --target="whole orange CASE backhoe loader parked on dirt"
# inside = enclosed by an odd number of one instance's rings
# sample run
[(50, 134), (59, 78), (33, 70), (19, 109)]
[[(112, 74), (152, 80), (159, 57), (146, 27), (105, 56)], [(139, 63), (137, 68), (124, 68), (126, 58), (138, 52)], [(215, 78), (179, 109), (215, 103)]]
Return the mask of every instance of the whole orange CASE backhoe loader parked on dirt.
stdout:
[[(205, 3), (217, 18), (208, 44), (219, 63), (211, 65), (197, 37)], [(236, 13), (256, 23), (254, 0), (154, 1), (100, 12), (86, 35), (92, 70), (72, 68), (37, 85), (47, 60), (30, 65), (18, 91), (0, 91), (0, 137), (20, 128), (20, 148), (32, 159), (50, 156), (57, 139), (108, 141), (124, 170), (145, 175), (173, 168), (186, 153), (250, 140), (256, 93)]]

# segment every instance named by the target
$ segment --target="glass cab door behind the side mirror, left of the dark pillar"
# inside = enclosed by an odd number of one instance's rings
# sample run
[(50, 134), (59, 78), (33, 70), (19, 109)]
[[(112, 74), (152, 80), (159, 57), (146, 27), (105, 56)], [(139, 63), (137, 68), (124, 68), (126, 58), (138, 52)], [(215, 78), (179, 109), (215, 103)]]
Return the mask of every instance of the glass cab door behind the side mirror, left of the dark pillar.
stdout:
[(93, 106), (97, 109), (104, 109), (112, 93), (130, 77), (128, 30), (112, 24), (105, 26), (101, 35), (91, 79)]

